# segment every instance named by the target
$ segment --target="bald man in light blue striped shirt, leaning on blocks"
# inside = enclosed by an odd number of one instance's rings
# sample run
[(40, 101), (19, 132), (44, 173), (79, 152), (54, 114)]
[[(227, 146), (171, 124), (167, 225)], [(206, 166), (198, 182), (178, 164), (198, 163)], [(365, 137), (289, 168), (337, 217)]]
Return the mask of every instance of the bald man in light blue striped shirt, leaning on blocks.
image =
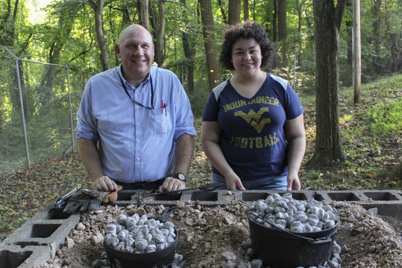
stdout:
[(87, 81), (77, 112), (78, 153), (92, 188), (182, 190), (197, 134), (184, 89), (173, 72), (152, 66), (144, 27), (124, 29), (115, 51), (121, 66)]

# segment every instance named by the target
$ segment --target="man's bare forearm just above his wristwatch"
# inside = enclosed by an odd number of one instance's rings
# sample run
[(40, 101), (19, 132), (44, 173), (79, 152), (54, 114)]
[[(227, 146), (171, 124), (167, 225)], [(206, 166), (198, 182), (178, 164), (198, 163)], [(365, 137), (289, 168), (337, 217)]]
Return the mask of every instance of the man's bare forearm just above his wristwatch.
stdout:
[(192, 154), (194, 152), (194, 138), (183, 134), (176, 140), (174, 173), (188, 173)]

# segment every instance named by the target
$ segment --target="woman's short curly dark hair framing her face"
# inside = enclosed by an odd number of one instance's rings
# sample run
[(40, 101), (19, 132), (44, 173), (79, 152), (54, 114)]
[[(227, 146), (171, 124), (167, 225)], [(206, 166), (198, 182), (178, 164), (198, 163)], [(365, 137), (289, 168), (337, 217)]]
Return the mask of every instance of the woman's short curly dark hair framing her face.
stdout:
[(239, 38), (254, 38), (261, 48), (261, 67), (272, 63), (274, 57), (274, 45), (268, 39), (268, 34), (264, 31), (261, 24), (247, 21), (228, 27), (225, 39), (222, 44), (222, 51), (219, 60), (229, 70), (234, 70), (232, 59), (232, 46)]

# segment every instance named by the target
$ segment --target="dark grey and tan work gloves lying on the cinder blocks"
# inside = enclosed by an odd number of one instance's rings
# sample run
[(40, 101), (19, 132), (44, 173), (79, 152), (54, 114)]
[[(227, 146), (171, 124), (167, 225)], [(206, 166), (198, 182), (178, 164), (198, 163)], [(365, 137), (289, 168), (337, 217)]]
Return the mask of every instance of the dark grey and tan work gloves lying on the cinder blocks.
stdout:
[[(123, 187), (119, 186), (117, 191), (122, 190)], [(103, 192), (96, 189), (81, 189), (81, 191), (72, 195), (63, 209), (64, 213), (86, 212), (88, 210), (97, 209), (101, 203), (107, 204), (117, 200), (116, 192)]]

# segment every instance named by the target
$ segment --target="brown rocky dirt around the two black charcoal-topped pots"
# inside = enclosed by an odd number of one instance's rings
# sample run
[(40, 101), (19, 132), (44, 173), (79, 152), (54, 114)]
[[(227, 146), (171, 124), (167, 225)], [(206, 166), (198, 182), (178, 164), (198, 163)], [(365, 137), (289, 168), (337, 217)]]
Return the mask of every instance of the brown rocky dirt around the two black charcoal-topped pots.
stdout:
[[(168, 220), (175, 224), (179, 239), (176, 253), (183, 260), (172, 266), (268, 267), (256, 261), (257, 256), (247, 246), (250, 230), (245, 211), (250, 204), (253, 202), (239, 201), (225, 208), (203, 208), (196, 202), (178, 202)], [(340, 217), (335, 241), (341, 246), (342, 259), (337, 267), (402, 267), (400, 221), (380, 217), (351, 202), (331, 205)], [(101, 235), (108, 218), (116, 221), (122, 213), (158, 218), (164, 209), (163, 205), (101, 206), (84, 213), (56, 257), (40, 267), (109, 267)]]

